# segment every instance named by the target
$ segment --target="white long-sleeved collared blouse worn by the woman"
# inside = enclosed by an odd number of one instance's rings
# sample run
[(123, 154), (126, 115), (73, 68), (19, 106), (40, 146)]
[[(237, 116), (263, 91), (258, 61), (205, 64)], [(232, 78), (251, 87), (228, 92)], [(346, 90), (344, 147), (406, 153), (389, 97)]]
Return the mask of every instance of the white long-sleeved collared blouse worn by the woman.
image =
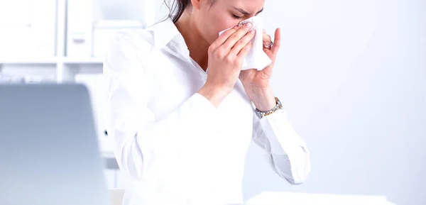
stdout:
[(207, 74), (170, 18), (114, 36), (104, 61), (107, 131), (133, 181), (125, 205), (242, 204), (251, 140), (290, 184), (307, 178), (309, 151), (285, 111), (258, 118), (240, 81), (216, 108), (197, 94)]

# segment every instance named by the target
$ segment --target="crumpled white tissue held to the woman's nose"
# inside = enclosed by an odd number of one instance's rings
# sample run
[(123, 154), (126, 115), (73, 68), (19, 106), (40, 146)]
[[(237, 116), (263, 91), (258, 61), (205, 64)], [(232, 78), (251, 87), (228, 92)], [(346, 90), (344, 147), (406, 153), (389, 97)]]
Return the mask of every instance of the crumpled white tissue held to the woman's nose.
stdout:
[[(247, 20), (241, 21), (241, 23), (251, 23), (251, 29), (256, 30), (256, 35), (251, 40), (253, 46), (247, 54), (246, 58), (244, 59), (241, 70), (263, 70), (265, 67), (271, 65), (272, 63), (271, 59), (263, 51), (263, 21), (260, 16), (253, 16)], [(222, 33), (228, 31), (229, 29), (231, 28), (221, 31), (219, 35), (222, 35)]]

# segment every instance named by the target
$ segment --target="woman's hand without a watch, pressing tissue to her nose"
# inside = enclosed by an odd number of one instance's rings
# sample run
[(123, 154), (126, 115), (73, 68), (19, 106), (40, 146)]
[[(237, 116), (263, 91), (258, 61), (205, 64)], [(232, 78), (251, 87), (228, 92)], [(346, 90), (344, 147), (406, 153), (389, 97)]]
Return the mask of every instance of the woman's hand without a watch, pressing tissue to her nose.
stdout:
[(250, 28), (251, 23), (246, 23), (229, 29), (209, 47), (207, 81), (198, 93), (216, 107), (234, 89), (244, 58), (251, 49), (251, 39), (255, 35), (255, 31), (250, 31)]

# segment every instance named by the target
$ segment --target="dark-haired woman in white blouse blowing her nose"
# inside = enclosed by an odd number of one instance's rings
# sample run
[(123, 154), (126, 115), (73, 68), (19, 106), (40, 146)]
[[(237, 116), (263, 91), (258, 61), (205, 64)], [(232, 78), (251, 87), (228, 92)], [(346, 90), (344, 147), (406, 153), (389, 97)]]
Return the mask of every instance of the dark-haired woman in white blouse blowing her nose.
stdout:
[[(133, 180), (124, 204), (243, 203), (251, 140), (280, 177), (305, 181), (309, 153), (273, 95), (273, 64), (241, 71), (255, 35), (250, 24), (218, 37), (263, 11), (263, 4), (178, 0), (173, 19), (116, 34), (104, 74), (110, 81), (107, 131), (121, 170)], [(273, 62), (279, 29), (274, 41), (264, 34)]]

